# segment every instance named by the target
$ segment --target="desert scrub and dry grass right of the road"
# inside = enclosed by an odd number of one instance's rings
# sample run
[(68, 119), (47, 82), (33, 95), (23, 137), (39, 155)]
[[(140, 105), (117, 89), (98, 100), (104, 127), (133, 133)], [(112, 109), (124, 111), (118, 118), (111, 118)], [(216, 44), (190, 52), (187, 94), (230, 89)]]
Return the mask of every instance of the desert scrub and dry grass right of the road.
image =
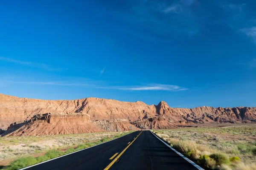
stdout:
[(212, 170), (256, 170), (256, 125), (154, 130), (195, 163)]

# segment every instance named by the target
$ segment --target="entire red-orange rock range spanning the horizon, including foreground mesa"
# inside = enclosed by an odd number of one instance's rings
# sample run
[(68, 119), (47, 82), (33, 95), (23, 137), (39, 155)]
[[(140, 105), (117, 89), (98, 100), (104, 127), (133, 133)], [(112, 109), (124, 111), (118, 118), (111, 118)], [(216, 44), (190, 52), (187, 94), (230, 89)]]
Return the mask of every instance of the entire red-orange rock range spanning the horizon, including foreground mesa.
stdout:
[(42, 100), (0, 94), (0, 133), (5, 136), (166, 129), (223, 122), (256, 122), (256, 108), (189, 109), (171, 108), (163, 101), (146, 105), (112, 99)]

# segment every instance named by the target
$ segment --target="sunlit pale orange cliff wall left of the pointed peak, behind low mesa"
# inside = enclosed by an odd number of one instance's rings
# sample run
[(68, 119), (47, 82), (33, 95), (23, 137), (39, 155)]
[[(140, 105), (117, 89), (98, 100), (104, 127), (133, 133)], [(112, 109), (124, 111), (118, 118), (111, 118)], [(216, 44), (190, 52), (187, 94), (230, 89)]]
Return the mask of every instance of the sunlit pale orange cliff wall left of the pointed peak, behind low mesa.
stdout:
[(112, 99), (87, 98), (77, 100), (41, 100), (18, 98), (0, 94), (0, 128), (11, 123), (29, 120), (35, 114), (83, 112), (92, 121), (104, 119), (128, 119), (131, 121), (155, 116), (154, 105), (143, 102), (119, 102)]

